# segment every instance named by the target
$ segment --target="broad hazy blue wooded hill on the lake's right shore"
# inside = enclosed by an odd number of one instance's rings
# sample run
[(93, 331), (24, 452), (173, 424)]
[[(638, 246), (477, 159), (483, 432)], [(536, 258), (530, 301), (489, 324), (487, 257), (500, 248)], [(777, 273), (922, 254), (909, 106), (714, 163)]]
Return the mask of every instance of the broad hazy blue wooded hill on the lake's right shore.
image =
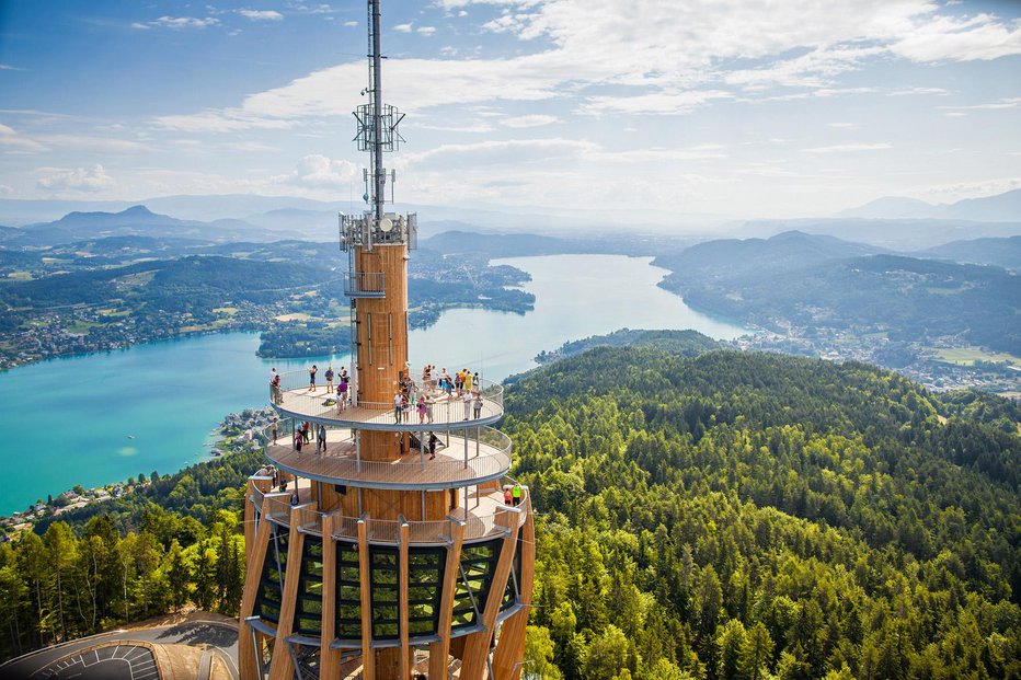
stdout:
[(827, 237), (713, 241), (657, 264), (661, 286), (693, 307), (780, 330), (960, 336), (1021, 355), (1021, 279), (999, 267), (869, 253)]

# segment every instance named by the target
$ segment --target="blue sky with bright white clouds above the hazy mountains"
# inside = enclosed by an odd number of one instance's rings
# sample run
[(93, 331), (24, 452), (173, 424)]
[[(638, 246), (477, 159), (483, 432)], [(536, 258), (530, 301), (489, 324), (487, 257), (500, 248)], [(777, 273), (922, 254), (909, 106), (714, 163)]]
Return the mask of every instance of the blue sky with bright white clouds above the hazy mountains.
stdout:
[[(1021, 187), (1021, 2), (382, 0), (398, 203), (827, 216)], [(364, 2), (0, 0), (0, 197), (349, 200)]]

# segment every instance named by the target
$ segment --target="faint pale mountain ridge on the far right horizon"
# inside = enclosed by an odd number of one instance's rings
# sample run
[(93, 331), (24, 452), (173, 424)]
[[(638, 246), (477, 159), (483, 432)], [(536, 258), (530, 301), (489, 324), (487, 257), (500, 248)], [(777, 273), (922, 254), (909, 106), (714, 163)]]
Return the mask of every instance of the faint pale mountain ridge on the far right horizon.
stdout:
[(865, 219), (951, 219), (973, 222), (1021, 222), (1021, 189), (965, 198), (953, 204), (932, 205), (917, 198), (887, 196), (858, 208), (842, 210), (838, 218)]

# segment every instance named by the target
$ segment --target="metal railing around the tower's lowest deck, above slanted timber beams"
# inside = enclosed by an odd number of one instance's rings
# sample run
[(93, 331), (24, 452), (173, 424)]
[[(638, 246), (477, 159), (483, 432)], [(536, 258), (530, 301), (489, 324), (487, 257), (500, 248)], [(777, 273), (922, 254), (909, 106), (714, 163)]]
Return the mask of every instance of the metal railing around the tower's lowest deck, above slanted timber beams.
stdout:
[[(528, 488), (525, 488), (525, 494)], [(274, 522), (289, 527), (291, 505), (287, 497), (279, 494), (267, 494), (269, 497), (268, 517)], [(523, 498), (524, 502), (524, 498)], [(526, 514), (524, 506), (518, 508), (508, 508), (497, 505), (493, 512), (486, 515), (473, 515), (469, 511), (467, 521), (458, 517), (462, 511), (461, 508), (454, 510), (450, 517), (441, 520), (431, 521), (408, 521), (408, 542), (411, 545), (446, 545), (451, 540), (452, 527), (458, 521), (464, 521), (466, 542), (478, 541), (501, 535), (505, 532), (504, 528), (496, 521), (497, 517), (505, 512), (513, 512), (516, 521), (510, 522), (514, 529), (520, 528), (525, 523)], [(358, 540), (358, 521), (357, 517), (344, 516), (340, 510), (333, 512), (320, 512), (314, 509), (310, 503), (298, 506), (298, 530), (311, 535), (322, 535), (322, 521), (326, 516), (331, 516), (333, 522), (333, 538), (342, 541)], [(370, 543), (395, 545), (400, 540), (401, 522), (391, 519), (372, 519), (365, 518), (366, 534)]]

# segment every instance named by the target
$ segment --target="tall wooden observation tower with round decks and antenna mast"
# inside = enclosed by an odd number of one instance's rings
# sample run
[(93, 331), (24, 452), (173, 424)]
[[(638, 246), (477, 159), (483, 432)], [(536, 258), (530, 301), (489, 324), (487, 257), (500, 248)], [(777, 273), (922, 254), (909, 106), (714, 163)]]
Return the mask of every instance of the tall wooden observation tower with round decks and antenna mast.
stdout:
[[(266, 457), (278, 479), (248, 483), (239, 669), (242, 680), (517, 680), (535, 566), (531, 503), (525, 487), (510, 503), (504, 496), (514, 484), (510, 440), (492, 427), (503, 388), (473, 380), (466, 403), (438, 389), (438, 369), (427, 381), (409, 362), (416, 217), (385, 210), (394, 173), (382, 159), (401, 141), (402, 116), (382, 103), (379, 0), (368, 7), (369, 102), (355, 117), (371, 161), (370, 209), (340, 216), (349, 403), (326, 390), (322, 369), (314, 390), (307, 371), (271, 387), (280, 422)], [(406, 413), (394, 408), (402, 391)], [(418, 395), (429, 402), (422, 423)], [(299, 450), (305, 423), (311, 441)]]

